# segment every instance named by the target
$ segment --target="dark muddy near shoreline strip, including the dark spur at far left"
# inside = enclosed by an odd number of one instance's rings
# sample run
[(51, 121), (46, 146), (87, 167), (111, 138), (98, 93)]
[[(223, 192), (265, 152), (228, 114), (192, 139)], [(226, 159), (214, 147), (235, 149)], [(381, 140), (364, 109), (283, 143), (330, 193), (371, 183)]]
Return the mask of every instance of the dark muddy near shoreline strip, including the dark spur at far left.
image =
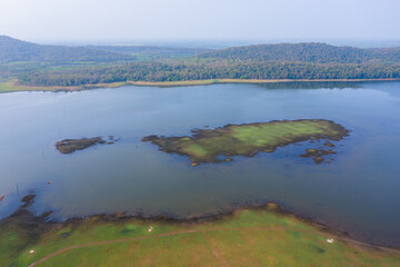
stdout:
[[(144, 224), (166, 224), (166, 225), (176, 225), (176, 226), (197, 226), (202, 224), (218, 224), (224, 220), (234, 219), (236, 215), (246, 211), (267, 211), (272, 215), (282, 216), (287, 218), (294, 218), (300, 222), (313, 227), (316, 230), (322, 234), (329, 234), (338, 240), (342, 240), (349, 244), (354, 244), (358, 246), (363, 246), (372, 249), (380, 249), (387, 251), (396, 251), (400, 254), (400, 244), (393, 245), (390, 243), (380, 243), (373, 240), (366, 240), (363, 238), (358, 238), (352, 236), (352, 231), (344, 229), (339, 229), (339, 226), (334, 227), (329, 225), (329, 221), (318, 220), (317, 216), (312, 215), (302, 215), (296, 210), (287, 207), (284, 204), (274, 200), (258, 200), (258, 201), (246, 201), (242, 204), (233, 202), (226, 208), (217, 208), (213, 210), (208, 210), (204, 212), (190, 214), (187, 216), (178, 216), (170, 212), (159, 212), (159, 214), (148, 214), (144, 215), (141, 210), (136, 211), (116, 211), (116, 212), (99, 212), (99, 214), (89, 214), (82, 216), (72, 216), (67, 219), (48, 219), (52, 214), (51, 210), (44, 211), (43, 214), (34, 215), (29, 207), (34, 202), (36, 195), (27, 195), (22, 198), (23, 205), (19, 206), (16, 211), (10, 216), (0, 219), (0, 225), (2, 221), (7, 221), (10, 218), (18, 218), (20, 214), (31, 214), (32, 220), (39, 221), (41, 225), (40, 228), (49, 229), (52, 227), (60, 226), (77, 226), (84, 225), (92, 220), (99, 222), (111, 222), (111, 224), (123, 224), (131, 220), (139, 220)], [(28, 199), (28, 200), (24, 200)], [(21, 212), (22, 211), (22, 212)], [(26, 219), (27, 217), (23, 217)]]

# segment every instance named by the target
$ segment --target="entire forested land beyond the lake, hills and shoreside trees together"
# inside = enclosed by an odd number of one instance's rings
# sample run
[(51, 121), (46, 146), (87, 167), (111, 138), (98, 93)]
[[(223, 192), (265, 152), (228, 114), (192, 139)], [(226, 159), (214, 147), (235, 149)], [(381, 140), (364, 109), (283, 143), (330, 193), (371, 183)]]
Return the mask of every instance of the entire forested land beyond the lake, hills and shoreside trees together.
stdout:
[[(17, 41), (17, 46), (9, 48), (10, 55), (4, 56), (0, 50), (0, 59), (6, 59), (7, 62), (7, 58), (10, 60), (28, 55), (30, 50), (19, 48), (20, 42)], [(280, 43), (211, 51), (162, 47), (32, 46), (44, 47), (39, 50), (46, 52), (40, 57), (33, 57), (37, 55), (33, 53), (31, 59), (37, 61), (29, 63), (0, 63), (0, 76), (17, 77), (19, 82), (31, 86), (203, 79), (400, 79), (400, 48), (360, 49), (324, 43)], [(58, 49), (67, 50), (64, 53), (54, 52), (61, 51)], [(96, 56), (99, 61), (80, 62), (74, 57), (82, 59), (83, 56), (74, 53), (78, 50), (73, 49), (90, 51), (88, 57), (94, 57), (99, 52)], [(67, 51), (70, 52), (68, 57)], [(66, 59), (73, 59), (72, 62), (59, 62), (62, 55)], [(137, 60), (134, 57), (148, 60)]]

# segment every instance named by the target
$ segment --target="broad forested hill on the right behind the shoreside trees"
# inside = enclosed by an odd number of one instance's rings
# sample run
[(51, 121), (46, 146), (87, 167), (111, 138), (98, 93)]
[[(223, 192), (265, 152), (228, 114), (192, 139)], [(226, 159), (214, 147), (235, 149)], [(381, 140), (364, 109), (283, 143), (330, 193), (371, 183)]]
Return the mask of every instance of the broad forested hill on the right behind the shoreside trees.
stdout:
[(297, 61), (310, 63), (399, 63), (400, 47), (370, 48), (334, 47), (327, 43), (278, 43), (232, 47), (204, 52), (209, 60), (238, 61)]

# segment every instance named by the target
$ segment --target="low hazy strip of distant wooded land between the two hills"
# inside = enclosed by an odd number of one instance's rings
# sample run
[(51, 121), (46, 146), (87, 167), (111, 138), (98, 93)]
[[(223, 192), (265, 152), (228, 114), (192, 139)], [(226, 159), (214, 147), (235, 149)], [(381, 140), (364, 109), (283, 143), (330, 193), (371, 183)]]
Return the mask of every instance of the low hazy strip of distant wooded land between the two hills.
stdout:
[(184, 58), (211, 51), (211, 49), (206, 48), (178, 48), (153, 46), (89, 46), (88, 48), (138, 56), (139, 59)]

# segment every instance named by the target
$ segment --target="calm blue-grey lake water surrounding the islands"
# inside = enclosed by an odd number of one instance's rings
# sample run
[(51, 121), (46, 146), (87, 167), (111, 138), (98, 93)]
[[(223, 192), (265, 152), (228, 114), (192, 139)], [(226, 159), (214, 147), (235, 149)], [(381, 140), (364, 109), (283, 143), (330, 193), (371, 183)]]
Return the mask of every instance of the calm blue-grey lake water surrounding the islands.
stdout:
[[(299, 157), (306, 147), (293, 144), (191, 167), (141, 141), (283, 119), (333, 120), (351, 132), (321, 165)], [(1, 218), (27, 194), (37, 195), (33, 212), (53, 211), (50, 220), (116, 211), (188, 218), (277, 201), (360, 240), (400, 246), (400, 82), (1, 93), (0, 129)], [(98, 136), (120, 140), (69, 155), (54, 147)]]

